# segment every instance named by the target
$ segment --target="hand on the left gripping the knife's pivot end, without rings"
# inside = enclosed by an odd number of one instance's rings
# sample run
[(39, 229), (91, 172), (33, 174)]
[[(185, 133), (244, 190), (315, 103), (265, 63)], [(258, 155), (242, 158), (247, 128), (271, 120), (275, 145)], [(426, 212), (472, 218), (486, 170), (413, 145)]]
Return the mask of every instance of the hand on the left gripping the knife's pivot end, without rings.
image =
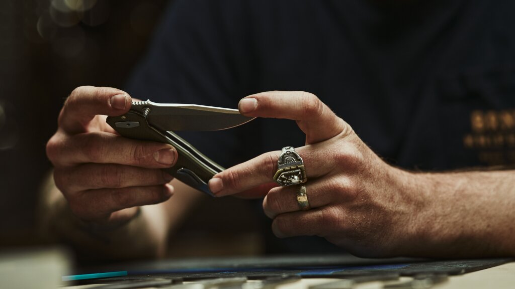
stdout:
[(126, 113), (130, 96), (116, 88), (81, 86), (59, 114), (58, 130), (46, 145), (56, 186), (84, 221), (115, 225), (138, 206), (168, 200), (177, 151), (159, 142), (119, 136), (106, 117)]

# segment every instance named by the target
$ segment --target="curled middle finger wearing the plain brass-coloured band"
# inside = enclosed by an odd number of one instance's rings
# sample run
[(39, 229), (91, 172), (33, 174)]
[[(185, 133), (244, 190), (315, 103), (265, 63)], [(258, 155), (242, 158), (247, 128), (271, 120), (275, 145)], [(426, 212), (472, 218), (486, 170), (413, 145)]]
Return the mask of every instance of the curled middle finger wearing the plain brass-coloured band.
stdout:
[[(306, 187), (307, 202), (312, 209), (327, 206), (335, 202), (346, 201), (346, 191), (352, 186), (348, 178), (320, 178), (303, 184)], [(289, 187), (276, 187), (271, 189), (263, 200), (263, 210), (268, 218), (276, 218), (277, 215), (299, 211), (297, 193), (301, 185)]]

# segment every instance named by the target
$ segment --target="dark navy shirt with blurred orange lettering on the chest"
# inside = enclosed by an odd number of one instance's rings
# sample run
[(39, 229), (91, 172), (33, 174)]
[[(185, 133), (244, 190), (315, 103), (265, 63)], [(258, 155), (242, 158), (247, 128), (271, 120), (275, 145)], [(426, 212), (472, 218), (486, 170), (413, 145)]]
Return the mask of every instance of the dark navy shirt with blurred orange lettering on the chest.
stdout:
[[(317, 95), (390, 164), (515, 162), (512, 0), (177, 0), (127, 87), (156, 102), (237, 106)], [(304, 145), (294, 121), (182, 134), (232, 166)]]

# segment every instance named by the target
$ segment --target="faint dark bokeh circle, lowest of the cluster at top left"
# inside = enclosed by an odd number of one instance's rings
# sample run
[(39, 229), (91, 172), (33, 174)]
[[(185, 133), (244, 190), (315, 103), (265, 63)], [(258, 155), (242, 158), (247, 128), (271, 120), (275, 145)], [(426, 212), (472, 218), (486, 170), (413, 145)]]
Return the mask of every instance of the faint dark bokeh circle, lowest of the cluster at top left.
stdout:
[(54, 52), (63, 58), (77, 57), (84, 50), (85, 35), (79, 26), (66, 29), (63, 35), (54, 40)]

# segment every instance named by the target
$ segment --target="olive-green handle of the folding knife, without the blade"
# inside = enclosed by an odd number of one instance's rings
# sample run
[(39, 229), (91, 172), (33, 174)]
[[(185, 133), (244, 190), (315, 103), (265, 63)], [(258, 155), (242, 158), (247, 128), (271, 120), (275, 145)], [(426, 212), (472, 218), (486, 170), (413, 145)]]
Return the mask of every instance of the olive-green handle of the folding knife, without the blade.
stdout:
[(169, 143), (178, 153), (173, 167), (163, 169), (186, 185), (202, 191), (210, 196), (208, 181), (224, 170), (216, 162), (200, 153), (190, 143), (173, 132), (162, 132), (147, 122), (146, 116), (136, 111), (116, 117), (108, 117), (107, 123), (120, 135), (133, 139), (150, 140)]

